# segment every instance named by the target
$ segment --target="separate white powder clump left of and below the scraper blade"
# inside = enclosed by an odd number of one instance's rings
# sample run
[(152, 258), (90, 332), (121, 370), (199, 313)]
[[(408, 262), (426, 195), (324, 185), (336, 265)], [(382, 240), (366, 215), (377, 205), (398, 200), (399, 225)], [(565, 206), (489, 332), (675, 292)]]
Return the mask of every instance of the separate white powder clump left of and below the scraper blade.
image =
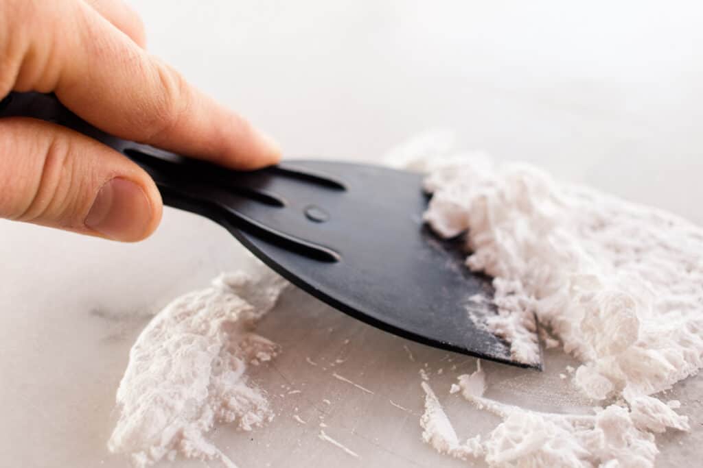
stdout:
[(276, 345), (252, 332), (285, 281), (223, 274), (171, 302), (143, 330), (117, 390), (120, 420), (108, 448), (146, 467), (177, 453), (234, 467), (205, 434), (215, 423), (251, 430), (273, 418), (247, 364), (269, 361)]

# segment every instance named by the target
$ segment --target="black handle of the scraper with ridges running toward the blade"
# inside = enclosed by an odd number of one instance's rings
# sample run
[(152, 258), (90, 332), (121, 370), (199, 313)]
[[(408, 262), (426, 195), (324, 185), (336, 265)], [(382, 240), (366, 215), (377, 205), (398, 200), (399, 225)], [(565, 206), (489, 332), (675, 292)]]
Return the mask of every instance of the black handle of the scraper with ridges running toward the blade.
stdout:
[[(54, 95), (11, 93), (0, 102), (0, 118), (32, 117), (58, 123), (115, 149), (141, 166), (156, 182), (165, 204), (205, 216), (226, 227), (240, 238), (240, 230), (265, 239), (288, 250), (323, 262), (335, 262), (337, 255), (272, 227), (266, 218), (252, 216), (252, 206), (283, 208), (285, 199), (270, 189), (277, 179), (288, 178), (314, 182), (332, 190), (344, 190), (344, 184), (328, 175), (321, 175), (295, 165), (271, 166), (258, 171), (232, 171), (204, 161), (189, 159), (122, 140), (98, 130), (64, 107)], [(267, 210), (266, 213), (269, 213)], [(240, 239), (241, 240), (241, 239)]]

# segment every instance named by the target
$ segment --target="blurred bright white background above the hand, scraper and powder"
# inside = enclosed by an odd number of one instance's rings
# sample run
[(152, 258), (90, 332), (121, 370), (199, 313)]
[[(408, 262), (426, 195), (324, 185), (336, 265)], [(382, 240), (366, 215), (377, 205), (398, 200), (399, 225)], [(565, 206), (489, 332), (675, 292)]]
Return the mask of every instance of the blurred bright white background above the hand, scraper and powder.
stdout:
[(133, 0), (149, 48), (287, 156), (458, 146), (703, 221), (695, 1)]

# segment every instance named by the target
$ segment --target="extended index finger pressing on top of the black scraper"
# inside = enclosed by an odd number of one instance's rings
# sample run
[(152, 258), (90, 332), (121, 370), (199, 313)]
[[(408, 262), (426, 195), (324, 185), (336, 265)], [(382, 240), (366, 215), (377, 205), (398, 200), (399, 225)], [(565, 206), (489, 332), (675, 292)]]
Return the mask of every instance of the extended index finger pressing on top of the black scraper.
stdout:
[(59, 69), (53, 91), (73, 112), (117, 137), (231, 168), (257, 168), (280, 159), (272, 140), (193, 88), (92, 8), (80, 1), (60, 4), (76, 11), (58, 8), (62, 18), (51, 22), (51, 59)]

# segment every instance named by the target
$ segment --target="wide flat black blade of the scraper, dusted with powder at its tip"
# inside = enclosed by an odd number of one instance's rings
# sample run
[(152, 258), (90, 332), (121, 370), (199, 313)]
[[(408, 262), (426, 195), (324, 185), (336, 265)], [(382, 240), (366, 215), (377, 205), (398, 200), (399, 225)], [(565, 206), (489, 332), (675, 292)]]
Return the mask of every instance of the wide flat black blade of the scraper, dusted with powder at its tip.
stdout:
[[(289, 201), (280, 224), (297, 239), (337, 253), (321, 261), (221, 222), (261, 260), (332, 307), (395, 335), (520, 367), (510, 343), (491, 333), (491, 279), (465, 266), (464, 239), (443, 240), (423, 223), (422, 176), (382, 166), (290, 161), (282, 166), (338, 180), (344, 190), (272, 178)], [(247, 211), (246, 207), (238, 210)], [(310, 212), (322, 219), (311, 219)], [(250, 213), (261, 219), (260, 213)], [(299, 224), (290, 217), (297, 217)], [(271, 219), (263, 220), (271, 225)]]

